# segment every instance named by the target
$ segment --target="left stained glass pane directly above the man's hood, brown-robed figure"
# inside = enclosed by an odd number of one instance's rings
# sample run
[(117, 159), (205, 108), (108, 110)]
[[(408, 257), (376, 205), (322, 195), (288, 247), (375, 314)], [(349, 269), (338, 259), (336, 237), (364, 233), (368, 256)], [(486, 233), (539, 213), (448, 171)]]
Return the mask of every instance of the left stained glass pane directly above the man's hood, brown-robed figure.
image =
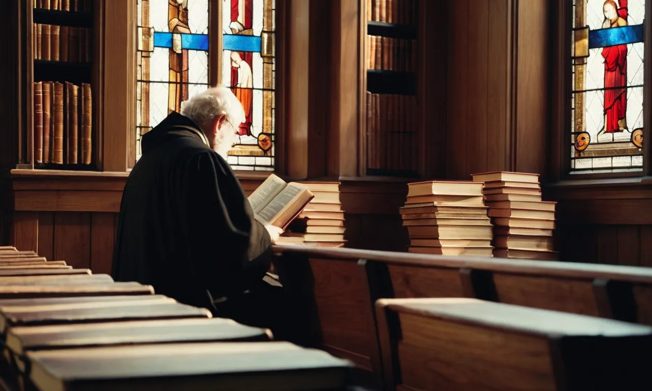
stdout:
[(136, 154), (140, 136), (207, 89), (209, 0), (136, 0)]

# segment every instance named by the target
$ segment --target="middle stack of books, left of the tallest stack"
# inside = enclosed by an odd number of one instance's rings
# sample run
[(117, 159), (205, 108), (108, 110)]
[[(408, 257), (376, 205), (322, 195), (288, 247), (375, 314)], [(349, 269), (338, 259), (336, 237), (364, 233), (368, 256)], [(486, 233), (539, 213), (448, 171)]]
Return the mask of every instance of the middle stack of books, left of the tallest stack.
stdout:
[(479, 182), (409, 183), (400, 214), (409, 252), (492, 256), (492, 224)]

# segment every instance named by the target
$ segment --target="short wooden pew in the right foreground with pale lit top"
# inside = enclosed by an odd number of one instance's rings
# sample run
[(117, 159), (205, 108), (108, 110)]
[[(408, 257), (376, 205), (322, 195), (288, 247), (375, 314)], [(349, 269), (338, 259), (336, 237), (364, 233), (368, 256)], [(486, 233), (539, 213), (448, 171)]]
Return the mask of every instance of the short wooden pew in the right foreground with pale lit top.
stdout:
[(386, 390), (652, 389), (652, 327), (472, 298), (382, 299)]

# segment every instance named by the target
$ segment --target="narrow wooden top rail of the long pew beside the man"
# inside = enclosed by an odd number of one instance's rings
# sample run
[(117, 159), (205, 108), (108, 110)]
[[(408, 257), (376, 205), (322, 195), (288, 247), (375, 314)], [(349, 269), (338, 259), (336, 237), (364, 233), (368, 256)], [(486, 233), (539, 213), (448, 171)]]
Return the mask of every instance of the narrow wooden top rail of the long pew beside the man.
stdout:
[(299, 253), (312, 258), (342, 259), (357, 262), (359, 259), (380, 261), (391, 265), (415, 265), (432, 268), (470, 268), (491, 270), (511, 274), (532, 274), (561, 278), (582, 278), (593, 280), (627, 280), (638, 283), (652, 283), (652, 268), (595, 265), (589, 263), (530, 261), (527, 259), (505, 259), (489, 257), (465, 257), (428, 255), (403, 252), (357, 250), (353, 248), (324, 248), (292, 244), (274, 245), (274, 253)]

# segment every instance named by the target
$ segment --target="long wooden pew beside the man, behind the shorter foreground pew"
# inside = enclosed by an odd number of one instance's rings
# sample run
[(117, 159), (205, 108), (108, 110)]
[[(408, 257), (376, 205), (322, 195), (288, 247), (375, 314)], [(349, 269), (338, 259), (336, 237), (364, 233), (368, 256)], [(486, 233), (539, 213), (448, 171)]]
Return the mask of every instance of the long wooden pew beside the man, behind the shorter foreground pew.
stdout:
[(652, 269), (274, 246), (284, 286), (312, 314), (312, 343), (378, 375), (374, 302), (475, 297), (652, 325)]

